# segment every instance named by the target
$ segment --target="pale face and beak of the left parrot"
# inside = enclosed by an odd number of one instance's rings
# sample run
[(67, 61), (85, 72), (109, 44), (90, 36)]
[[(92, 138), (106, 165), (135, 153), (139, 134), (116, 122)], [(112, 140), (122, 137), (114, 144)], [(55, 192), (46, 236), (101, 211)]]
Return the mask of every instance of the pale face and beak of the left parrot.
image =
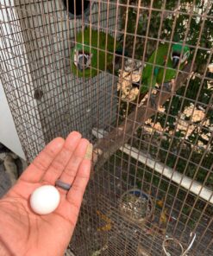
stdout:
[(74, 64), (78, 68), (79, 72), (83, 72), (84, 69), (89, 68), (91, 65), (92, 54), (75, 50)]

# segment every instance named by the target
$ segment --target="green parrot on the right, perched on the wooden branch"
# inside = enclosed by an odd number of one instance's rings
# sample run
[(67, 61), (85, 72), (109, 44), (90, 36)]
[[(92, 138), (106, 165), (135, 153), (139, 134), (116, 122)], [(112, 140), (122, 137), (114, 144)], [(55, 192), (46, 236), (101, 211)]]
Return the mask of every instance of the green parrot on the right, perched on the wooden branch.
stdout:
[[(168, 56), (168, 61), (167, 61), (166, 71), (165, 71), (164, 67), (166, 63), (168, 50), (169, 50), (169, 44), (168, 43), (162, 44), (157, 50), (153, 52), (153, 54), (148, 59), (147, 61), (148, 63), (153, 63), (154, 56), (156, 54), (154, 68), (153, 68), (153, 64), (147, 64), (146, 67), (144, 67), (143, 69), (142, 78), (141, 78), (140, 102), (141, 102), (141, 99), (143, 99), (143, 97), (147, 94), (150, 86), (154, 87), (156, 83), (158, 83), (161, 86), (168, 86), (170, 81), (177, 76), (177, 67), (179, 65), (179, 61), (180, 61), (179, 69), (181, 70), (185, 67), (185, 62), (188, 60), (190, 56), (190, 48), (188, 48), (187, 46), (183, 48), (182, 42), (177, 42), (172, 44), (171, 53)], [(182, 53), (182, 57), (180, 59), (181, 53)], [(161, 67), (158, 65), (160, 65)], [(164, 73), (165, 73), (165, 77), (164, 77)], [(135, 84), (135, 85), (138, 86), (138, 84)], [(169, 88), (166, 88), (166, 89), (169, 90)]]

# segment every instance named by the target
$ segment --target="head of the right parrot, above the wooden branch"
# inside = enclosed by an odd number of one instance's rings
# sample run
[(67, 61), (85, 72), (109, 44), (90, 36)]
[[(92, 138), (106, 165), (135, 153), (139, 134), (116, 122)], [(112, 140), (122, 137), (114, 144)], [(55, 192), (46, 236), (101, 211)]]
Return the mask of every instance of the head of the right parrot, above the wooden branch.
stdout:
[[(180, 55), (182, 53), (182, 58), (180, 59)], [(183, 47), (181, 43), (175, 43), (172, 45), (172, 52), (171, 52), (171, 60), (172, 60), (172, 67), (178, 67), (179, 61), (180, 63), (184, 63), (190, 55), (190, 48), (187, 46)]]

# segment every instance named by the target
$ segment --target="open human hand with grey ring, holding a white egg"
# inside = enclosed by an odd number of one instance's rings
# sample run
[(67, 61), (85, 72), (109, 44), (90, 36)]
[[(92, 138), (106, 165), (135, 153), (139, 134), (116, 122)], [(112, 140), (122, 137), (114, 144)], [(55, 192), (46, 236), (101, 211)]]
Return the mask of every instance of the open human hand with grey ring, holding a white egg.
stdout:
[[(0, 200), (0, 255), (60, 256), (66, 250), (78, 219), (90, 177), (89, 141), (72, 131), (64, 140), (55, 138), (22, 173), (15, 186)], [(89, 159), (88, 159), (89, 158)], [(57, 179), (72, 184), (60, 189), (60, 205), (51, 214), (34, 214), (29, 197)]]

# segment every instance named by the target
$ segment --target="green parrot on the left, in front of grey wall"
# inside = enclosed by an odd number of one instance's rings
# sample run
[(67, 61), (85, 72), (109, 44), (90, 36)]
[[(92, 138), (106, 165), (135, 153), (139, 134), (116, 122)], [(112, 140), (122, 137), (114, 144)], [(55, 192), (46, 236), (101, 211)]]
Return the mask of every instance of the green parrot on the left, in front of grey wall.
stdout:
[[(120, 42), (116, 41), (115, 52), (122, 56)], [(101, 31), (98, 32), (97, 30), (87, 28), (84, 30), (84, 33), (81, 31), (76, 36), (76, 44), (72, 48), (71, 53), (72, 73), (78, 75), (78, 77), (94, 77), (100, 71), (107, 70), (112, 72), (113, 54), (114, 38)]]

